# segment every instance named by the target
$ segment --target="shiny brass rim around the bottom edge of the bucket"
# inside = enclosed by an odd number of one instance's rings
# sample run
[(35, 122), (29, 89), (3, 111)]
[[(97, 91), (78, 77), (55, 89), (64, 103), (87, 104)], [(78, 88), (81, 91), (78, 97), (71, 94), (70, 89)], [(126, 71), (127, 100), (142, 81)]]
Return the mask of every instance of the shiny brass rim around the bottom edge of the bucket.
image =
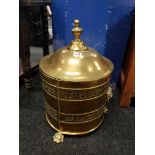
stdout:
[(50, 120), (49, 120), (49, 118), (48, 118), (48, 116), (47, 116), (47, 113), (46, 113), (46, 120), (47, 120), (48, 124), (49, 124), (54, 130), (56, 130), (56, 131), (58, 131), (58, 132), (60, 132), (61, 134), (64, 134), (64, 135), (84, 135), (84, 134), (90, 133), (90, 132), (96, 130), (96, 129), (102, 124), (103, 118), (104, 118), (104, 116), (102, 116), (101, 122), (100, 122), (96, 127), (94, 127), (93, 129), (91, 129), (91, 130), (89, 130), (89, 131), (85, 131), (85, 132), (67, 132), (67, 131), (60, 131), (59, 129), (57, 129), (56, 127), (54, 127), (54, 126), (51, 124), (51, 122), (50, 122)]

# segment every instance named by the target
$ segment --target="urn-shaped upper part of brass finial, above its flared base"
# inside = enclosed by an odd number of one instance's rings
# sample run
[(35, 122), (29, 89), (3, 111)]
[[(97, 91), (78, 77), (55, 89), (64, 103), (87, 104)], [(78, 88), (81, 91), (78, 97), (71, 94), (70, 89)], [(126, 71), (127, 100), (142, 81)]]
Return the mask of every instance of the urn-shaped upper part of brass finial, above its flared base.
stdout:
[(74, 28), (72, 29), (72, 33), (75, 36), (75, 40), (80, 39), (80, 35), (83, 32), (83, 29), (79, 27), (79, 20), (75, 19), (74, 20)]

